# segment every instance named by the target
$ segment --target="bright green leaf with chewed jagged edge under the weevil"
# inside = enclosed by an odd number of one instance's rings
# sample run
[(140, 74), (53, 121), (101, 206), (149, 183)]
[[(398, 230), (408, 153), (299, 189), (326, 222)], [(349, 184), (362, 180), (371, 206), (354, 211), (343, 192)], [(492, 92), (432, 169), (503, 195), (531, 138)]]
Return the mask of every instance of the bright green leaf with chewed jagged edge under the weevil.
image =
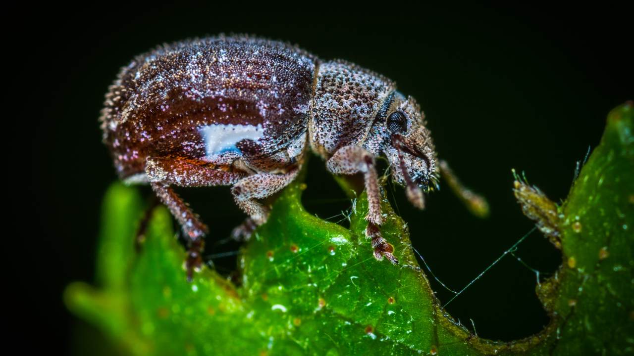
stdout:
[[(141, 200), (136, 189), (114, 184), (103, 207), (98, 286), (71, 284), (65, 300), (137, 355), (631, 353), (632, 113), (631, 103), (610, 113), (602, 143), (561, 207), (543, 195), (520, 199), (533, 209), (532, 219), (559, 232), (550, 238), (560, 242), (564, 258), (557, 274), (536, 288), (551, 322), (523, 340), (477, 338), (446, 314), (412, 253), (405, 222), (387, 201), (382, 232), (399, 265), (372, 257), (363, 234), (365, 195), (355, 200), (351, 228), (344, 229), (304, 210), (299, 179), (243, 247), (237, 287), (207, 268), (186, 281), (184, 250), (165, 208), (155, 209), (135, 252)], [(547, 209), (556, 214), (545, 221)]]

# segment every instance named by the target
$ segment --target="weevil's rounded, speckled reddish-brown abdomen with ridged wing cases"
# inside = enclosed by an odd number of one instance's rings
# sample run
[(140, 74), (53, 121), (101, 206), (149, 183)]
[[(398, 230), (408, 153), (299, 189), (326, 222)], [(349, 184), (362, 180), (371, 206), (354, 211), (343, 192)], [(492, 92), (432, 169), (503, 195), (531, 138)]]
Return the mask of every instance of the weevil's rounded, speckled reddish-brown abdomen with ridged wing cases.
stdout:
[[(286, 149), (306, 132), (316, 58), (281, 42), (212, 37), (164, 46), (122, 69), (102, 112), (120, 177), (147, 156), (208, 159)], [(243, 143), (243, 142), (242, 142)]]

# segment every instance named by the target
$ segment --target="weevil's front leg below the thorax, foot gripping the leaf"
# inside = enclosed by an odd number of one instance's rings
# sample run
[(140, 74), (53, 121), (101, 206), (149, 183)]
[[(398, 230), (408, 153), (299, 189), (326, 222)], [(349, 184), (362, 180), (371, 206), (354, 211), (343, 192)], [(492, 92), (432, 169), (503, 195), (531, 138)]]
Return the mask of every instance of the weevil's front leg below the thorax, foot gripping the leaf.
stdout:
[(372, 239), (374, 257), (377, 260), (387, 258), (392, 264), (398, 264), (398, 259), (392, 254), (394, 246), (387, 243), (381, 236), (381, 194), (378, 188), (377, 169), (372, 153), (360, 146), (344, 146), (335, 152), (328, 160), (326, 167), (333, 174), (363, 173), (365, 190), (368, 194), (368, 215), (365, 220), (368, 227), (365, 229), (366, 238)]

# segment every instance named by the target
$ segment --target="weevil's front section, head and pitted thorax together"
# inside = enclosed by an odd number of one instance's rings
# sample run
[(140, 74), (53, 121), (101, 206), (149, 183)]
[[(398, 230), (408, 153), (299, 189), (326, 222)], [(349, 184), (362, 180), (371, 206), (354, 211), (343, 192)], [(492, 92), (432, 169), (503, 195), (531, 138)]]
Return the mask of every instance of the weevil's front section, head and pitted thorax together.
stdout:
[(392, 80), (346, 61), (321, 63), (311, 103), (313, 151), (330, 158), (337, 149), (361, 144), (384, 153), (394, 181), (405, 186), (413, 205), (437, 186), (434, 144), (414, 98), (396, 91)]

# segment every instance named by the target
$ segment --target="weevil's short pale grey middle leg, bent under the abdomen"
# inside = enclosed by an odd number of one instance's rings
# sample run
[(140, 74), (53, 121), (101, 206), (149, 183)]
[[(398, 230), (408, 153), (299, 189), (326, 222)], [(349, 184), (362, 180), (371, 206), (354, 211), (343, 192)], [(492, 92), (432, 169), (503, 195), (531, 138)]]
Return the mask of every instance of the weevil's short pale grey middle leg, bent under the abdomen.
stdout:
[(269, 217), (269, 209), (257, 203), (256, 199), (266, 198), (280, 191), (297, 177), (299, 169), (298, 165), (283, 174), (254, 174), (233, 184), (233, 198), (238, 207), (249, 215), (252, 224), (260, 226)]

